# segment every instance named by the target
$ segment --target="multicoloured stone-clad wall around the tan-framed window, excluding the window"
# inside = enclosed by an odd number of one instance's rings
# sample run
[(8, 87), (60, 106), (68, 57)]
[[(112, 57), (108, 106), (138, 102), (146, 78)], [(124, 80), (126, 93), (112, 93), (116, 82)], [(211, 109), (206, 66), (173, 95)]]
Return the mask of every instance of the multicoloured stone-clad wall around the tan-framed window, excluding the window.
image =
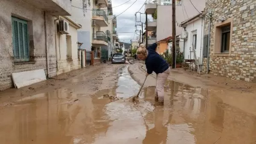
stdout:
[[(256, 82), (256, 1), (255, 0), (206, 0), (205, 12), (212, 10), (209, 70), (214, 75)], [(230, 54), (214, 53), (215, 24), (224, 17), (232, 19)], [(209, 18), (205, 18), (204, 35), (208, 34)], [(231, 26), (231, 27), (232, 27)], [(206, 64), (207, 59), (204, 59)], [(203, 71), (207, 68), (204, 65)]]

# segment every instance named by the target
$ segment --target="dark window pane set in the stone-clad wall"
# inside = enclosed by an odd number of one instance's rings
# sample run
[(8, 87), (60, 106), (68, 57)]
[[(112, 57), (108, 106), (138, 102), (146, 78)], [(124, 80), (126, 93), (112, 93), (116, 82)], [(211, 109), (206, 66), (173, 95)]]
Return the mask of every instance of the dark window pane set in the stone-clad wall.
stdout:
[(224, 26), (221, 30), (221, 52), (227, 53), (230, 48), (230, 26)]

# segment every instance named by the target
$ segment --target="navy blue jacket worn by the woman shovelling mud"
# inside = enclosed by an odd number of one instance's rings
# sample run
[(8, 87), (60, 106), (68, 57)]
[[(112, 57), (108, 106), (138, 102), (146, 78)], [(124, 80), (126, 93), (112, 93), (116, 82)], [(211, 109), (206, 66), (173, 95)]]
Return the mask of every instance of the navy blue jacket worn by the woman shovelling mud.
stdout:
[(155, 50), (157, 44), (153, 43), (151, 46), (148, 46), (148, 56), (145, 60), (146, 68), (148, 74), (151, 74), (153, 71), (156, 74), (163, 73), (169, 68), (169, 64), (164, 60)]

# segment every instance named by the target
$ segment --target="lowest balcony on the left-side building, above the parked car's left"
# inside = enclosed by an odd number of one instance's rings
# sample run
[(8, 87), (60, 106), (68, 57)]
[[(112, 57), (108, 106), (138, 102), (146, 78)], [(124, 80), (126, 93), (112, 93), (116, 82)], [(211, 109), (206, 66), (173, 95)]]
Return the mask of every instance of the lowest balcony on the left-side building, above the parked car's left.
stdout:
[(108, 46), (108, 38), (104, 32), (96, 32), (93, 34), (93, 46)]

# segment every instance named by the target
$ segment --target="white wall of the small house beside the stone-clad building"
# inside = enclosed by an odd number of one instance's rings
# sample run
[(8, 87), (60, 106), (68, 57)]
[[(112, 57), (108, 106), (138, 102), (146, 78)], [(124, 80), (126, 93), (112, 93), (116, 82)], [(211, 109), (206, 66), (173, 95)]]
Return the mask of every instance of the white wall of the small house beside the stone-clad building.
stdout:
[[(184, 58), (185, 59), (194, 59), (194, 54), (191, 52), (191, 57), (190, 57), (190, 49), (192, 51), (192, 43), (193, 43), (193, 35), (197, 34), (197, 41), (196, 41), (196, 57), (202, 57), (203, 53), (203, 30), (204, 30), (204, 20), (202, 21), (202, 18), (199, 18), (198, 20), (195, 20), (194, 22), (189, 23), (186, 26), (186, 31), (188, 32), (188, 38), (185, 41), (185, 54)], [(180, 45), (183, 45), (183, 42), (180, 42)]]

